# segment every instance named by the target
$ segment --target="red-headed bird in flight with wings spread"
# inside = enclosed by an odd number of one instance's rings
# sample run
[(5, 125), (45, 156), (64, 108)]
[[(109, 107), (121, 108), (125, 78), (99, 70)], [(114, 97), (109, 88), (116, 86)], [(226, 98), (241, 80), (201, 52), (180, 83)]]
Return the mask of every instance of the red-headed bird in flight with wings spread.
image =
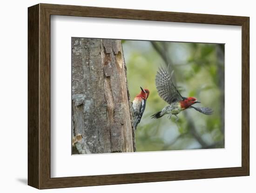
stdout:
[(160, 118), (166, 114), (168, 114), (168, 118), (170, 119), (172, 115), (175, 115), (177, 119), (175, 122), (179, 120), (177, 114), (179, 114), (182, 110), (193, 108), (205, 115), (213, 114), (213, 110), (208, 107), (194, 107), (192, 106), (195, 103), (200, 103), (196, 100), (195, 97), (183, 97), (180, 92), (176, 89), (173, 81), (172, 75), (164, 70), (163, 68), (159, 68), (157, 74), (155, 76), (155, 84), (156, 89), (158, 91), (159, 96), (165, 100), (169, 105), (163, 108), (161, 111), (152, 115), (152, 118)]

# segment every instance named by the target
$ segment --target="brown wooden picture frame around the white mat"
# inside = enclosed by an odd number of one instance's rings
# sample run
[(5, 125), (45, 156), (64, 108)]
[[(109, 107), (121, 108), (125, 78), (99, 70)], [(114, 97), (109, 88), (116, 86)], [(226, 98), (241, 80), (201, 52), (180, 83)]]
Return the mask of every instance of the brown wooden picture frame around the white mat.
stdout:
[[(51, 178), (50, 16), (242, 26), (242, 167)], [(249, 17), (38, 4), (28, 8), (28, 185), (39, 189), (249, 175)]]

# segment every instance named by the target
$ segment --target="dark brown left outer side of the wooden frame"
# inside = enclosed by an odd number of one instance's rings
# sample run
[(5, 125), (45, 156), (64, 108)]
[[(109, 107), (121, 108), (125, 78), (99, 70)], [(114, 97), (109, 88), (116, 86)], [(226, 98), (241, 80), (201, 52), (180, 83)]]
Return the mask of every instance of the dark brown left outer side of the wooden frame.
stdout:
[(39, 187), (39, 5), (28, 9), (28, 184)]

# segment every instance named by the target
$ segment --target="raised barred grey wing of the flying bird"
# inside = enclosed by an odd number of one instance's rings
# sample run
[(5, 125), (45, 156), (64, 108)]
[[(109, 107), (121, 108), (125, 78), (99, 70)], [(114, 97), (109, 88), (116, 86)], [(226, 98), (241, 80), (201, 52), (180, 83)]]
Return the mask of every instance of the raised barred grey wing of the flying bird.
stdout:
[(155, 85), (158, 94), (169, 104), (175, 101), (182, 101), (184, 99), (172, 82), (172, 74), (173, 71), (171, 75), (169, 75), (166, 70), (159, 68), (155, 76)]

